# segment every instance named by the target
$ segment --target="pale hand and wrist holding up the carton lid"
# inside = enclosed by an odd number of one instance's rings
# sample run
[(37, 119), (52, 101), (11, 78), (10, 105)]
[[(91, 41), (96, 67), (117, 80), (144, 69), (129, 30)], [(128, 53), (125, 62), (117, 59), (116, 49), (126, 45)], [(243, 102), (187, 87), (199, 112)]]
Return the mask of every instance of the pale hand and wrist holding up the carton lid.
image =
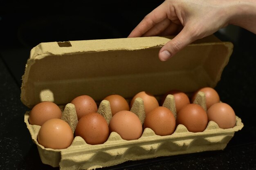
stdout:
[(176, 35), (159, 50), (159, 59), (166, 61), (191, 42), (229, 24), (256, 34), (256, 0), (165, 0), (128, 38)]

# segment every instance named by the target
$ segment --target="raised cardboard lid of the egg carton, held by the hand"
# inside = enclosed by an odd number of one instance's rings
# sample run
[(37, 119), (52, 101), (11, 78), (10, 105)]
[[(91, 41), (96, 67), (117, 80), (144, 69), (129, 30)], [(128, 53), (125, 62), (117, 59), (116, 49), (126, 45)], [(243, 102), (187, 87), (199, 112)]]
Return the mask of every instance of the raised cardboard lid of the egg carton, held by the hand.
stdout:
[(111, 94), (131, 99), (140, 91), (160, 96), (215, 87), (233, 50), (214, 35), (197, 40), (166, 62), (161, 47), (173, 37), (117, 38), (40, 43), (31, 49), (22, 76), (21, 101), (32, 108), (58, 105), (79, 95), (96, 102)]

